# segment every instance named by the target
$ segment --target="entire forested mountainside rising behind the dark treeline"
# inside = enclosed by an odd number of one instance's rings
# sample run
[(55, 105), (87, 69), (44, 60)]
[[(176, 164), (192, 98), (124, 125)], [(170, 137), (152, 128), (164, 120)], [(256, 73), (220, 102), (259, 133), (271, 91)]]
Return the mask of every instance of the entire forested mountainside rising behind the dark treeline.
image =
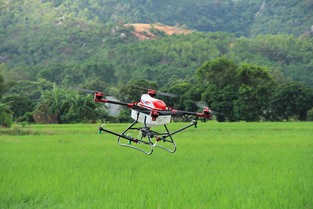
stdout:
[[(151, 27), (125, 26), (133, 23)], [(185, 32), (168, 35), (164, 25)], [(313, 87), (313, 0), (0, 1), (3, 97), (38, 99), (53, 83), (112, 92), (140, 79), (198, 85), (197, 69), (221, 57)]]

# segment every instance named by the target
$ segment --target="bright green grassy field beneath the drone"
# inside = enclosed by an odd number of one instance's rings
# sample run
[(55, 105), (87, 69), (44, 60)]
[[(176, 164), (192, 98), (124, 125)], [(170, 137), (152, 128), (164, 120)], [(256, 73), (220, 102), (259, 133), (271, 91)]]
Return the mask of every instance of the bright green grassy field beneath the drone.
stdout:
[(200, 122), (151, 156), (99, 125), (2, 134), (0, 208), (313, 208), (313, 122)]

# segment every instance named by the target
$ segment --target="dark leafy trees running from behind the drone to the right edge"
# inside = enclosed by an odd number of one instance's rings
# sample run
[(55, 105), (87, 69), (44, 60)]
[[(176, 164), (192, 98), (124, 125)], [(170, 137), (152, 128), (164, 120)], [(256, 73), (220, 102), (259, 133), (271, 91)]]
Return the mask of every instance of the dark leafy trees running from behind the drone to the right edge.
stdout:
[[(218, 58), (206, 61), (196, 70), (197, 81), (179, 83), (162, 92), (179, 94), (180, 97), (158, 96), (174, 109), (201, 112), (204, 106), (223, 113), (218, 121), (289, 121), (313, 120), (313, 88), (300, 82), (278, 84), (268, 69), (258, 65), (243, 64)], [(140, 94), (129, 86), (154, 86), (145, 80), (130, 81), (122, 86), (122, 101), (139, 100)], [(195, 101), (200, 101), (201, 108)], [(192, 117), (194, 118), (194, 117)], [(189, 116), (178, 120), (189, 121)], [(199, 118), (200, 119), (200, 118)]]

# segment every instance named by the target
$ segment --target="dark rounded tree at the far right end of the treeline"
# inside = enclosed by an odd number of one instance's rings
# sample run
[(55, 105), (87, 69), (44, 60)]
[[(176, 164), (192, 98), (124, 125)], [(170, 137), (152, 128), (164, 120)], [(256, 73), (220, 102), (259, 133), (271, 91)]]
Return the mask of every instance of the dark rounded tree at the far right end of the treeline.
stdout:
[(270, 100), (272, 118), (281, 117), (287, 121), (292, 116), (306, 119), (307, 111), (313, 107), (313, 89), (299, 82), (280, 85)]

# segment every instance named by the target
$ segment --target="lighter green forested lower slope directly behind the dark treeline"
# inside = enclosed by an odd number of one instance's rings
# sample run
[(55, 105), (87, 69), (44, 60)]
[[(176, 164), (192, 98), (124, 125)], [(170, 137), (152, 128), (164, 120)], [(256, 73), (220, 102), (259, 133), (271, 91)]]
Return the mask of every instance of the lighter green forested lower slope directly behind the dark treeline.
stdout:
[(237, 65), (267, 67), (279, 83), (292, 79), (313, 86), (312, 43), (312, 36), (268, 35), (247, 39), (221, 32), (192, 33), (116, 45), (114, 50), (104, 48), (90, 55), (85, 63), (48, 62), (13, 68), (8, 67), (11, 62), (2, 63), (0, 73), (6, 80), (45, 78), (57, 84), (78, 85), (99, 79), (96, 83), (105, 82), (112, 87), (131, 79), (148, 79), (158, 82), (160, 87), (169, 87), (178, 79), (194, 77), (195, 70), (205, 61), (225, 57)]

